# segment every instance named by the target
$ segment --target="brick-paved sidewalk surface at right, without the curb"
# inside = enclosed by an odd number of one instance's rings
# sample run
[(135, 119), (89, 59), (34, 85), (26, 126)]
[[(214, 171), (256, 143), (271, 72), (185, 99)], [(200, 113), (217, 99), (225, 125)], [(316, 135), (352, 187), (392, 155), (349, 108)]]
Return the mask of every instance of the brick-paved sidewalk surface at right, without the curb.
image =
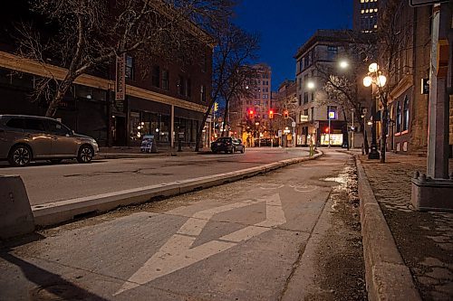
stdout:
[[(410, 205), (410, 178), (426, 171), (426, 157), (387, 153), (385, 165), (358, 159), (420, 297), (453, 300), (453, 212), (416, 212)], [(450, 160), (450, 172), (452, 166)]]

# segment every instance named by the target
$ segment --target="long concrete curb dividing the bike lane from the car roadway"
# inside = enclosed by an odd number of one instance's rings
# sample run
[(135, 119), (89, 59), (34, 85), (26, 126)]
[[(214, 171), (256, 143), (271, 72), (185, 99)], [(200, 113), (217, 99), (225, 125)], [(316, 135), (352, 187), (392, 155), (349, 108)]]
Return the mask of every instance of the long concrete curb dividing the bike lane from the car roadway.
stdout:
[(235, 172), (214, 174), (183, 181), (128, 189), (115, 193), (103, 193), (60, 202), (34, 205), (32, 206), (34, 222), (38, 226), (50, 226), (64, 221), (71, 221), (75, 218), (81, 218), (84, 215), (92, 213), (107, 212), (119, 206), (149, 202), (152, 199), (189, 193), (224, 183), (235, 182), (256, 174), (265, 174), (286, 165), (313, 160), (321, 155), (323, 155), (323, 152), (320, 151), (319, 154), (313, 155), (312, 157), (307, 156), (287, 159)]

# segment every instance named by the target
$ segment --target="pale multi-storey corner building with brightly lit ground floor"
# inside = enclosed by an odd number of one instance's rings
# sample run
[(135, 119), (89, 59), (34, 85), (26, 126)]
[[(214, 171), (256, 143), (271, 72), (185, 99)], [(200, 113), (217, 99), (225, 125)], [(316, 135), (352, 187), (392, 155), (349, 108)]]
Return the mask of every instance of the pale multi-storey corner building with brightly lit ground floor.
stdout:
[(351, 43), (352, 31), (318, 30), (294, 55), (298, 146), (328, 146), (329, 141), (331, 146), (342, 146), (346, 142), (347, 113), (335, 99), (328, 98), (323, 91), (325, 78), (318, 73), (323, 66), (338, 64)]

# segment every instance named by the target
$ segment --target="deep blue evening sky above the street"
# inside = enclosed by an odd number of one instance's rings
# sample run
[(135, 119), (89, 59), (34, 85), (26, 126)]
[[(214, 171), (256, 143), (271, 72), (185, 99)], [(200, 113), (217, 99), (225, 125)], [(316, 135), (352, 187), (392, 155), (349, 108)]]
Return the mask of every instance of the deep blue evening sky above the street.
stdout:
[(259, 61), (272, 68), (272, 89), (294, 80), (294, 54), (316, 29), (352, 27), (352, 0), (242, 0), (236, 24), (261, 34)]

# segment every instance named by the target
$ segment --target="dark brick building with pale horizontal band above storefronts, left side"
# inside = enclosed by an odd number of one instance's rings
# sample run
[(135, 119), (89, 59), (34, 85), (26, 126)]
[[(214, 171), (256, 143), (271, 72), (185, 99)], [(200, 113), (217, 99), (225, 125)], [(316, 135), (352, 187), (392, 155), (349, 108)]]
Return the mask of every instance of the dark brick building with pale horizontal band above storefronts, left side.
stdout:
[[(27, 1), (19, 0), (14, 13), (3, 12), (0, 23), (0, 112), (44, 115), (47, 103), (31, 102), (36, 80), (52, 76), (63, 80), (65, 69), (25, 60), (15, 54), (14, 26), (30, 14)], [(125, 99), (115, 101), (116, 64), (82, 74), (74, 81), (54, 118), (76, 132), (94, 137), (100, 146), (137, 146), (144, 135), (154, 135), (158, 145), (174, 146), (175, 133), (183, 132), (186, 146), (195, 146), (197, 128), (207, 111), (211, 91), (212, 45), (181, 66), (169, 58), (149, 53), (139, 61), (125, 55)]]

